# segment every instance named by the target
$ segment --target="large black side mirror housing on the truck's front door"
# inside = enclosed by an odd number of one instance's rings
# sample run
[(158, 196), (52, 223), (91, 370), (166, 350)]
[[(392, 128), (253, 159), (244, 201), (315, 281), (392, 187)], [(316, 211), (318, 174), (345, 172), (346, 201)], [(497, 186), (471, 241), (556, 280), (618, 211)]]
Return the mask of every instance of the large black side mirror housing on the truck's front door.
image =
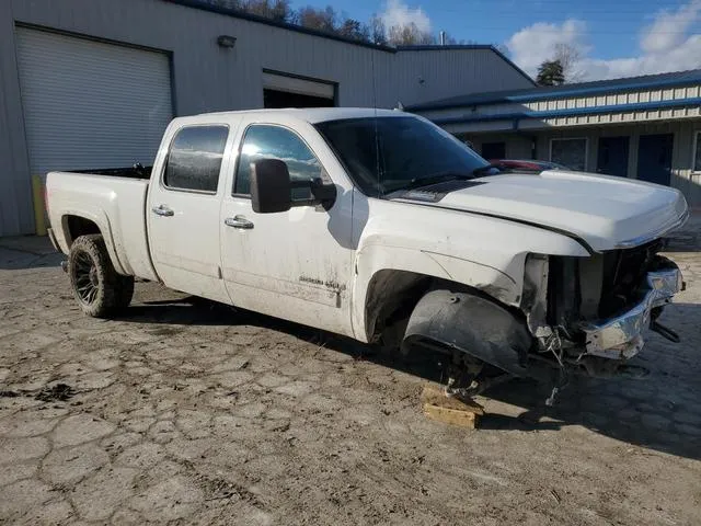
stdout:
[(291, 208), (291, 182), (284, 161), (261, 159), (252, 163), (251, 204), (256, 214), (275, 214)]

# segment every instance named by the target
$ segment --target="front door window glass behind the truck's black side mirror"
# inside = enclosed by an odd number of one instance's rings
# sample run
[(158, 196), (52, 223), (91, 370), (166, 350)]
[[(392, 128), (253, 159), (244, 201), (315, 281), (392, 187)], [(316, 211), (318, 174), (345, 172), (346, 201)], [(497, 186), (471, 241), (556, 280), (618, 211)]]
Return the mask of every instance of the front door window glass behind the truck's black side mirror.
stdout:
[[(307, 144), (294, 132), (274, 125), (253, 125), (245, 132), (239, 169), (234, 184), (234, 194), (251, 193), (251, 163), (261, 159), (279, 159), (285, 161), (292, 181), (323, 179), (321, 164)], [(309, 188), (295, 188), (292, 199), (310, 199)]]

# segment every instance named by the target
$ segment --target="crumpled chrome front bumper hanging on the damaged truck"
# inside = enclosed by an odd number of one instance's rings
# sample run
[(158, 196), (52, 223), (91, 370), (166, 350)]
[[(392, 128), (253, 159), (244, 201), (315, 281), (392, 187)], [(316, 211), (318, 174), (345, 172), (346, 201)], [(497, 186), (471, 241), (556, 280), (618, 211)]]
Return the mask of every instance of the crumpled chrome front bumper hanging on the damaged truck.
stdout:
[(681, 272), (678, 268), (650, 272), (646, 285), (643, 300), (631, 310), (584, 328), (588, 354), (616, 359), (637, 354), (643, 346), (641, 333), (650, 324), (652, 309), (668, 304), (681, 290)]

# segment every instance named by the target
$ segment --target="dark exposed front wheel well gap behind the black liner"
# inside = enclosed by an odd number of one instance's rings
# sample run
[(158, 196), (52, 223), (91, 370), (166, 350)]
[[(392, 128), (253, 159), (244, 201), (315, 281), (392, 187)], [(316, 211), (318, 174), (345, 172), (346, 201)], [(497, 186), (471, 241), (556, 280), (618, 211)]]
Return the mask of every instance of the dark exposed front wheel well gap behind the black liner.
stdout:
[(433, 276), (407, 271), (377, 272), (365, 300), (365, 330), (377, 342), (386, 329), (409, 321), (414, 307), (430, 287)]

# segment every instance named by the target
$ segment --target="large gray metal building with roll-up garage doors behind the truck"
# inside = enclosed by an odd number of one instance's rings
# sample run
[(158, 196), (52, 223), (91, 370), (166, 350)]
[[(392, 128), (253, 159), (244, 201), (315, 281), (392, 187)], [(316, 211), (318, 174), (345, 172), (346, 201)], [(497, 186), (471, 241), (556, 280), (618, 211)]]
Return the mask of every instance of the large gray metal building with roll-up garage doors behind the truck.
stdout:
[(0, 236), (34, 231), (32, 174), (150, 164), (174, 115), (530, 85), (491, 46), (395, 49), (194, 0), (2, 0)]

